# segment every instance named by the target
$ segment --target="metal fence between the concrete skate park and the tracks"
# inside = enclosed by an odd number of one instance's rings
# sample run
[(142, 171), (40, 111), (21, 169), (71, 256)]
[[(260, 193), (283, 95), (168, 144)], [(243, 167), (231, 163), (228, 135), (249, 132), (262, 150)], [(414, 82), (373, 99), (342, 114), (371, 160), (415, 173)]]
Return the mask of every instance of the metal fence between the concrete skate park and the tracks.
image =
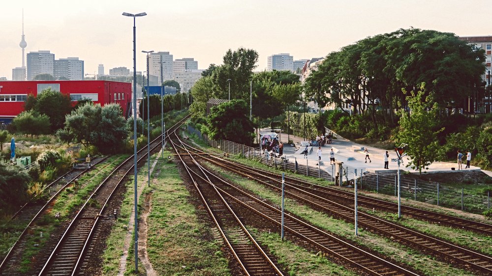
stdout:
[(332, 181), (331, 172), (321, 169), (320, 164), (314, 160), (297, 160), (297, 158), (292, 160), (291, 158), (288, 159), (283, 156), (278, 157), (270, 153), (265, 154), (260, 151), (259, 148), (246, 146), (236, 142), (231, 142), (228, 140), (215, 141), (189, 125), (187, 126), (187, 130), (190, 135), (195, 135), (200, 140), (203, 140), (207, 145), (218, 148), (227, 154), (243, 156), (249, 160), (259, 161), (267, 166)]

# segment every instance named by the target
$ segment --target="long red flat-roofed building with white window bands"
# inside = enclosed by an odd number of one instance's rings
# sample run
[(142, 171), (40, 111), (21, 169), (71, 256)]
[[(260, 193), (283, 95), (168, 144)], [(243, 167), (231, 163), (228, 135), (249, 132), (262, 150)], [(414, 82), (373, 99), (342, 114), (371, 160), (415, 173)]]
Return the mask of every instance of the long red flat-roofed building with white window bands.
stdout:
[(131, 83), (112, 81), (25, 81), (0, 82), (0, 120), (9, 122), (24, 111), (29, 94), (37, 97), (44, 89), (70, 96), (73, 105), (82, 98), (89, 98), (102, 106), (117, 103), (123, 115), (128, 117), (131, 107)]

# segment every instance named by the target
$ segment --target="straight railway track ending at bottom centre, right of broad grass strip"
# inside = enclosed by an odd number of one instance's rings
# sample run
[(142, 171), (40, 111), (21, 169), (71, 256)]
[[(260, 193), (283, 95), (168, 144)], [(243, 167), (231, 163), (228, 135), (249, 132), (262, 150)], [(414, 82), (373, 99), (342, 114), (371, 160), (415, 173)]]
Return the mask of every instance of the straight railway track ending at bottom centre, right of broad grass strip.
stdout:
[[(172, 146), (177, 153), (185, 152), (181, 145), (179, 145), (180, 150), (174, 142), (172, 142)], [(208, 177), (207, 170), (201, 167), (191, 155), (179, 154), (178, 156), (225, 244), (237, 261), (239, 273), (243, 275), (283, 276), (275, 263), (247, 231), (238, 215), (217, 191)]]

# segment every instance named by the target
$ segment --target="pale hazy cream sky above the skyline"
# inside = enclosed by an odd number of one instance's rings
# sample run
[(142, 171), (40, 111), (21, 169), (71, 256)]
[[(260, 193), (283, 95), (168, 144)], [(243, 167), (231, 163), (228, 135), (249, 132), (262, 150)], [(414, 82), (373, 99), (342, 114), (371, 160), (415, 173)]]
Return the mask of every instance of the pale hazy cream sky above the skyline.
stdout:
[(146, 51), (194, 57), (198, 68), (222, 63), (228, 49), (246, 47), (267, 56), (324, 56), (368, 36), (399, 28), (435, 29), (459, 36), (492, 35), (490, 0), (25, 0), (0, 4), (0, 77), (22, 64), (19, 47), (24, 8), (26, 54), (49, 50), (55, 58), (76, 56), (85, 73), (133, 68), (133, 19), (137, 18), (137, 71)]

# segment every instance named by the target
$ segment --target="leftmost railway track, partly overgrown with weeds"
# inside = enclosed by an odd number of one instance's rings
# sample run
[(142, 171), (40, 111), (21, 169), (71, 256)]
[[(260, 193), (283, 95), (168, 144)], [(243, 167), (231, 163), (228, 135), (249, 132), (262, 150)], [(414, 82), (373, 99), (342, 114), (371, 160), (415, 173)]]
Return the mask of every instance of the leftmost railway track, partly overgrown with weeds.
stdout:
[[(107, 157), (100, 157), (100, 158), (95, 158), (92, 160), (92, 166), (96, 166), (97, 164), (105, 161)], [(3, 268), (6, 266), (11, 266), (13, 263), (19, 261), (16, 258), (12, 258), (13, 253), (19, 248), (22, 247), (22, 238), (26, 235), (26, 233), (29, 232), (29, 229), (35, 224), (35, 222), (43, 215), (45, 212), (50, 209), (51, 204), (58, 198), (58, 195), (62, 193), (67, 187), (69, 187), (72, 182), (84, 175), (86, 172), (88, 172), (91, 168), (85, 168), (85, 169), (80, 169), (80, 168), (74, 168), (60, 176), (59, 178), (55, 179), (53, 182), (50, 184), (46, 185), (46, 187), (43, 188), (41, 193), (48, 193), (49, 199), (46, 202), (32, 202), (32, 200), (26, 202), (19, 211), (17, 211), (11, 218), (10, 221), (15, 221), (15, 222), (28, 222), (27, 226), (24, 228), (22, 233), (19, 235), (19, 238), (15, 241), (15, 243), (12, 245), (10, 250), (7, 252), (5, 255), (5, 258), (3, 258), (3, 261), (0, 264), (0, 272), (2, 271)]]

